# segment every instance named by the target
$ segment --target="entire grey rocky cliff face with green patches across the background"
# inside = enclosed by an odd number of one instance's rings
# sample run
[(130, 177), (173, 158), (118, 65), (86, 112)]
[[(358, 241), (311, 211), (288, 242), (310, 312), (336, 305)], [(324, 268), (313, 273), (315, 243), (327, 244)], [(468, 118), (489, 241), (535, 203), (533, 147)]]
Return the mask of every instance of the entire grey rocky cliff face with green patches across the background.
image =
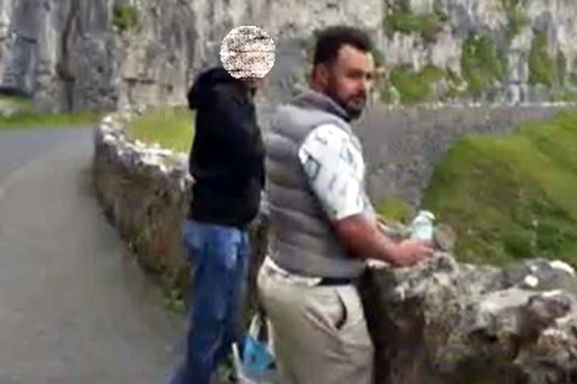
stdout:
[(183, 103), (222, 37), (257, 25), (274, 36), (269, 99), (304, 82), (316, 28), (370, 31), (388, 103), (573, 98), (573, 0), (0, 0), (0, 81), (50, 110)]

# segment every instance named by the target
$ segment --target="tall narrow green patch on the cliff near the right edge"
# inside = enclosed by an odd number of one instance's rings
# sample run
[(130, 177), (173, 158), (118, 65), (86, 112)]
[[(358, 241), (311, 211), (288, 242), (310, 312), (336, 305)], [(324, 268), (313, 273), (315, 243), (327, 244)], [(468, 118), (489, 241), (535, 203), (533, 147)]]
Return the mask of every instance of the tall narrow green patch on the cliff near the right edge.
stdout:
[(529, 51), (529, 83), (553, 87), (558, 83), (558, 78), (557, 63), (547, 53), (547, 33), (535, 31)]

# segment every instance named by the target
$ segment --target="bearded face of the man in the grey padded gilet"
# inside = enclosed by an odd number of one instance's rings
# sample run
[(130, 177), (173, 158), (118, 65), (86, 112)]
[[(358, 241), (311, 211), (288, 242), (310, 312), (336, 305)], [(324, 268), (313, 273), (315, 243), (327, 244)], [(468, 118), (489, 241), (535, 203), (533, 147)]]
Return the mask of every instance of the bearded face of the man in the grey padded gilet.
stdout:
[(355, 119), (363, 113), (374, 82), (373, 55), (346, 44), (328, 66), (323, 88)]

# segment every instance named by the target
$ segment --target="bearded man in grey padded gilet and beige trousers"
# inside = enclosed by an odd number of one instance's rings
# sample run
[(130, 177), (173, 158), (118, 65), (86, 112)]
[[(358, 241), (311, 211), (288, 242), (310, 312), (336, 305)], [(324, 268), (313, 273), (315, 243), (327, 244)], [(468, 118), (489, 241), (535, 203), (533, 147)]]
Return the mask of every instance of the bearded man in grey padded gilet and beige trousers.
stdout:
[(357, 28), (321, 31), (312, 89), (279, 108), (266, 137), (271, 242), (258, 283), (281, 383), (371, 383), (373, 344), (355, 288), (365, 261), (432, 256), (430, 242), (386, 237), (365, 193), (349, 123), (373, 85), (372, 49)]

